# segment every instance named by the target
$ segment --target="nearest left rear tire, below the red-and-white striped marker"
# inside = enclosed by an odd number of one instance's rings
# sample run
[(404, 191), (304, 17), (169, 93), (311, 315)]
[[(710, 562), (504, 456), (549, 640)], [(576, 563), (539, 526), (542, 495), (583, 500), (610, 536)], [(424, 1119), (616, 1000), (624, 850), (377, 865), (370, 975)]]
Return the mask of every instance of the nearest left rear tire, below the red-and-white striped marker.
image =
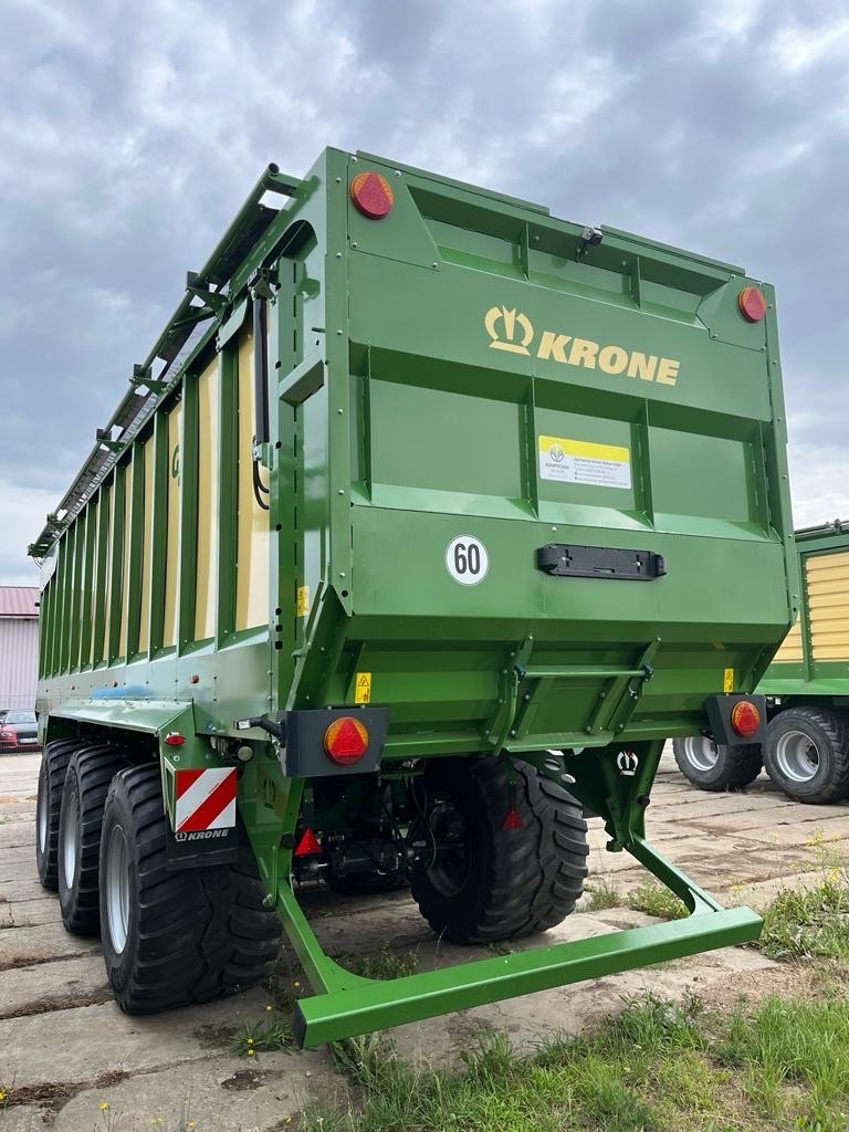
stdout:
[(169, 872), (166, 832), (158, 764), (117, 774), (101, 834), (101, 937), (109, 981), (129, 1014), (256, 986), (280, 945), (250, 847), (232, 865)]

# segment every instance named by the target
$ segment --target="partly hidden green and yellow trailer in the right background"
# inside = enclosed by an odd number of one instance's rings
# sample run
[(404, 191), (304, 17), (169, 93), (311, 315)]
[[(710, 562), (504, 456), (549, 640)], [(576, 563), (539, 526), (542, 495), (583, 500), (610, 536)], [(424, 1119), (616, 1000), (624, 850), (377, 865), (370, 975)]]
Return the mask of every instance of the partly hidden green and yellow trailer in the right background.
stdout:
[(761, 744), (674, 741), (686, 777), (703, 790), (739, 790), (763, 767), (797, 801), (849, 798), (849, 523), (796, 532), (799, 616), (767, 668)]

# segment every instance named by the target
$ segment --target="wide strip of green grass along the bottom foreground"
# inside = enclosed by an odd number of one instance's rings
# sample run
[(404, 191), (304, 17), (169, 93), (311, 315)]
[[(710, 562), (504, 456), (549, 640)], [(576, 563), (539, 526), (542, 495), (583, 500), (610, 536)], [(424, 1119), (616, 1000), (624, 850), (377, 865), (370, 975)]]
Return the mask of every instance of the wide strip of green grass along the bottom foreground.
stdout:
[(413, 1067), (372, 1036), (334, 1047), (355, 1086), (299, 1132), (846, 1132), (849, 1003), (705, 1011), (654, 996), (530, 1055), (504, 1036), (460, 1070)]

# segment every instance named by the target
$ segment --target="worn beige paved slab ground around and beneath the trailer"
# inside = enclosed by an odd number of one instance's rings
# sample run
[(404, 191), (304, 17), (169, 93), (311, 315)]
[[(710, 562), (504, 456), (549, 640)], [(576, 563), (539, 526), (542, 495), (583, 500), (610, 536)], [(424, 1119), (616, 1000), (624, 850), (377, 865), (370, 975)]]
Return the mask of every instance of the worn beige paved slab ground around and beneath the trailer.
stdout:
[[(112, 1003), (96, 941), (68, 935), (55, 898), (40, 886), (34, 859), (38, 756), (0, 758), (0, 1087), (18, 1101), (0, 1112), (0, 1132), (92, 1132), (122, 1114), (119, 1132), (156, 1125), (177, 1130), (190, 1104), (197, 1132), (285, 1129), (315, 1095), (341, 1094), (326, 1052), (231, 1052), (235, 1030), (268, 1018), (266, 996), (240, 998), (157, 1018), (128, 1018)], [(604, 851), (591, 823), (592, 881), (626, 892), (646, 874), (626, 855)], [(728, 902), (763, 903), (786, 883), (817, 875), (817, 844), (849, 850), (849, 806), (801, 806), (761, 778), (745, 795), (694, 790), (664, 757), (649, 811), (652, 840), (709, 891)], [(309, 915), (332, 954), (417, 951), (421, 968), (488, 954), (437, 944), (406, 893), (391, 898), (314, 899)], [(618, 908), (581, 912), (547, 942), (581, 938), (649, 923)], [(576, 1031), (621, 996), (654, 989), (710, 995), (729, 985), (769, 983), (774, 966), (747, 949), (698, 955), (575, 987), (401, 1027), (401, 1053), (451, 1062), (477, 1032), (507, 1031), (529, 1044), (551, 1030)], [(106, 1115), (100, 1104), (109, 1101)]]

